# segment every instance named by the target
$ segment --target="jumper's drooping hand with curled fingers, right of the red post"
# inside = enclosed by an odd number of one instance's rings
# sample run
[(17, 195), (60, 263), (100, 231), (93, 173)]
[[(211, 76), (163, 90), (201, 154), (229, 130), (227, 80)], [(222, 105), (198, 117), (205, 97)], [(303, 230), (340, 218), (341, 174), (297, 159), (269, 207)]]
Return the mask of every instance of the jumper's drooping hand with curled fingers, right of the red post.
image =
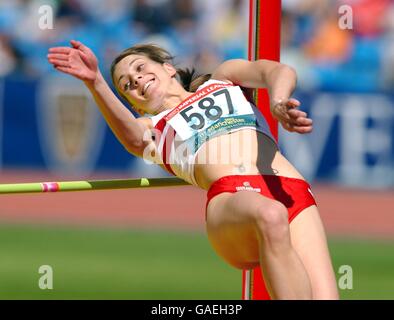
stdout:
[(312, 131), (312, 119), (306, 112), (298, 110), (301, 103), (294, 98), (279, 100), (271, 106), (271, 113), (282, 127), (290, 132), (309, 133)]

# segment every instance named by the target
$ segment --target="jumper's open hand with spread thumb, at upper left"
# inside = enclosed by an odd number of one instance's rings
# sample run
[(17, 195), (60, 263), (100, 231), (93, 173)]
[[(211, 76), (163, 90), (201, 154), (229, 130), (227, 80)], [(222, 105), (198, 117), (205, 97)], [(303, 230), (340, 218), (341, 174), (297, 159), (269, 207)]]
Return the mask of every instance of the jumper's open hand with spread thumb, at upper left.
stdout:
[(71, 47), (49, 49), (48, 61), (56, 70), (72, 75), (82, 81), (93, 82), (97, 78), (97, 58), (88, 47), (71, 40)]

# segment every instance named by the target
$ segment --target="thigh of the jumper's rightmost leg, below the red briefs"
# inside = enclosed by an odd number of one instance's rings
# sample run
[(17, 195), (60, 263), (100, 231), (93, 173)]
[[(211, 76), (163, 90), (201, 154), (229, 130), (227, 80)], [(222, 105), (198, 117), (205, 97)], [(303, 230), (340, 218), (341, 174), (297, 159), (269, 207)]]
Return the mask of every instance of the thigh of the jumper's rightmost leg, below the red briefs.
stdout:
[(327, 238), (316, 206), (290, 224), (291, 242), (309, 275), (314, 299), (337, 299), (338, 291)]

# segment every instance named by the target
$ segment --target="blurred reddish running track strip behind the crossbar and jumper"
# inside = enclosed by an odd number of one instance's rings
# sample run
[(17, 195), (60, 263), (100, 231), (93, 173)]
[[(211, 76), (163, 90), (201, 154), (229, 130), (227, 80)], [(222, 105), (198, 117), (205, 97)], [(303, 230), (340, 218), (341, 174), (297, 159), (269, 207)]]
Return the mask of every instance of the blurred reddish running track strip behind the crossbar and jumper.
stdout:
[[(0, 183), (49, 180), (81, 178), (48, 178), (47, 173), (22, 170), (0, 173)], [(312, 187), (329, 236), (394, 238), (394, 189)], [(205, 192), (192, 186), (4, 195), (0, 197), (0, 222), (204, 230), (205, 199)]]

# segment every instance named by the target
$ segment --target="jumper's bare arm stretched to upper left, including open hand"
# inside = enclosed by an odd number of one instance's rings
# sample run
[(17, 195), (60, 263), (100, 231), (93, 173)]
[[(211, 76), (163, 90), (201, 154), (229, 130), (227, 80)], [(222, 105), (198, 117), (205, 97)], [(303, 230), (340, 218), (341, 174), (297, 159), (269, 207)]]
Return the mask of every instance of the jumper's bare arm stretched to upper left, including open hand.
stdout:
[(56, 70), (72, 75), (84, 82), (94, 97), (112, 132), (127, 151), (142, 156), (150, 141), (144, 141), (144, 132), (150, 120), (135, 118), (113, 93), (99, 68), (94, 53), (79, 41), (71, 41), (72, 47), (49, 49), (48, 61)]

